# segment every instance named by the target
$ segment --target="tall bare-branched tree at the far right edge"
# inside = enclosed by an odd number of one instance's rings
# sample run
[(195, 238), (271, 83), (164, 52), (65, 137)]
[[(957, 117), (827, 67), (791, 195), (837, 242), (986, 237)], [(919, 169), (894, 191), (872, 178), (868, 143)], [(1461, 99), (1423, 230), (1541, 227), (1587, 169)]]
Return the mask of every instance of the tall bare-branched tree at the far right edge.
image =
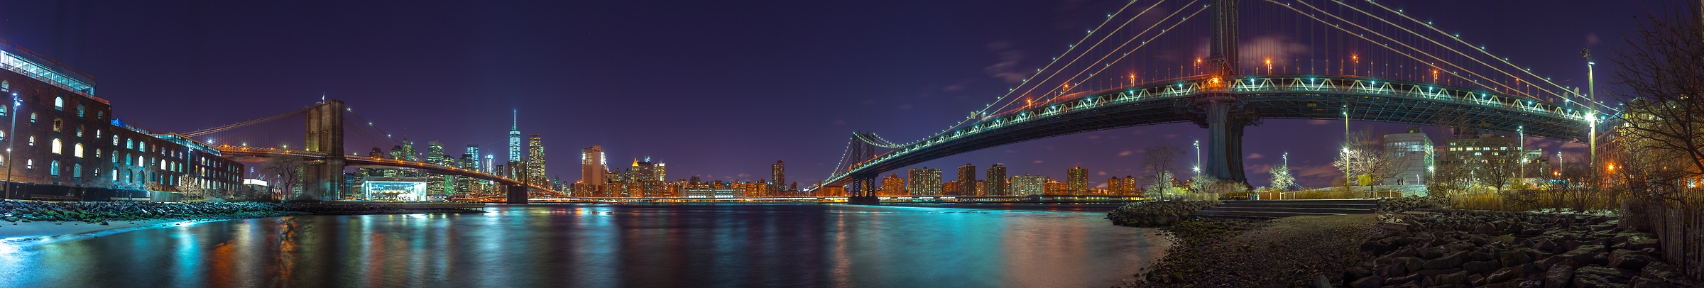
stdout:
[(1667, 179), (1695, 179), (1704, 172), (1704, 19), (1699, 15), (1704, 12), (1699, 12), (1701, 3), (1687, 5), (1648, 15), (1612, 58), (1619, 66), (1612, 84), (1624, 87), (1612, 94), (1626, 104), (1617, 114), (1626, 123), (1617, 138), (1627, 143), (1624, 148), (1636, 150), (1629, 160), (1655, 164), (1675, 157), (1687, 162), (1680, 164), (1684, 170), (1629, 164), (1629, 169), (1646, 170), (1622, 176), (1646, 179), (1624, 179), (1624, 184), (1648, 199), (1675, 199), (1680, 189), (1667, 187), (1673, 184)]

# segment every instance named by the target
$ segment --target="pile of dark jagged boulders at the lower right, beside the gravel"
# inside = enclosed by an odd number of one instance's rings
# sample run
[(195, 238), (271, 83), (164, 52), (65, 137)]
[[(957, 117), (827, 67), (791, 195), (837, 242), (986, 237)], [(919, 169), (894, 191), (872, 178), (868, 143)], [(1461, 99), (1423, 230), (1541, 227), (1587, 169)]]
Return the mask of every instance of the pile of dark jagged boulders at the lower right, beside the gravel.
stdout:
[(1436, 210), (1380, 215), (1346, 286), (1692, 286), (1651, 233), (1614, 216)]

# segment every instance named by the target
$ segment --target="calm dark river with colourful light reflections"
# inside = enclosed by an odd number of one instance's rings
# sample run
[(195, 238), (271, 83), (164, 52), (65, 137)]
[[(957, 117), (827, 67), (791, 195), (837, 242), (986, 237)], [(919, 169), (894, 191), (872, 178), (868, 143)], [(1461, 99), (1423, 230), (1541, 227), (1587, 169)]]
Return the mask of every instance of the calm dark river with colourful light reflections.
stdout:
[[(1062, 206), (1070, 210), (1070, 206)], [(1104, 211), (527, 204), (0, 242), (0, 286), (1113, 286), (1162, 256)]]

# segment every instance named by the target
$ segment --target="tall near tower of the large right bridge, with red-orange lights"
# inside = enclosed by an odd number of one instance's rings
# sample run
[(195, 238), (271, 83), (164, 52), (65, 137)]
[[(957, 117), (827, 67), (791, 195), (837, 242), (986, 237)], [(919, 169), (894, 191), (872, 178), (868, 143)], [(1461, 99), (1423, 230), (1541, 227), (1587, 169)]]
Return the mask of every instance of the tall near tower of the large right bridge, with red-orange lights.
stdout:
[(1210, 80), (1206, 92), (1196, 94), (1189, 112), (1195, 123), (1208, 130), (1206, 164), (1203, 172), (1223, 181), (1247, 182), (1242, 174), (1242, 128), (1259, 124), (1244, 109), (1242, 99), (1232, 92), (1237, 78), (1237, 0), (1213, 0), (1213, 37), (1208, 43)]

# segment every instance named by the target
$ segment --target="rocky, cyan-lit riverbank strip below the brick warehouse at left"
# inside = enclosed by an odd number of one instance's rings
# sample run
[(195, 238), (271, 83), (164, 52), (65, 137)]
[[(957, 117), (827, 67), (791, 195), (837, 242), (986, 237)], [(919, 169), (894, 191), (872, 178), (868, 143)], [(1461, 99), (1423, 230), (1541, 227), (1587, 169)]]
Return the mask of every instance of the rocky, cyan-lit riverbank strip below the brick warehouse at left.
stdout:
[(298, 215), (484, 213), (469, 204), (0, 201), (0, 239)]

